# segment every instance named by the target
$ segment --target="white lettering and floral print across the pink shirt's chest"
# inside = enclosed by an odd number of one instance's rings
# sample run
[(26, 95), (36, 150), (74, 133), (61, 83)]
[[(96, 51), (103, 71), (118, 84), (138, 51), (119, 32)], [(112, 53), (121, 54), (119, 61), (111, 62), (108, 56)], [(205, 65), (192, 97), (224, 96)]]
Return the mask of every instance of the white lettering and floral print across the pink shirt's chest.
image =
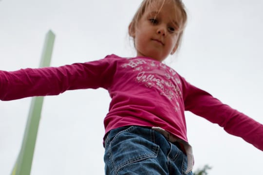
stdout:
[[(128, 61), (128, 63), (122, 65), (122, 68), (130, 67), (133, 69), (133, 71), (138, 71), (136, 76), (136, 81), (138, 83), (144, 83), (145, 87), (147, 88), (156, 87), (160, 89), (160, 95), (165, 96), (169, 100), (182, 97), (181, 90), (178, 88), (178, 85), (181, 84), (181, 81), (175, 76), (175, 70), (169, 68), (163, 63), (153, 60), (143, 60), (137, 58), (132, 60), (128, 59)], [(152, 70), (151, 73), (149, 73), (150, 70)], [(158, 72), (158, 74), (154, 73), (155, 71)], [(160, 78), (160, 73), (163, 73), (164, 78)], [(176, 106), (174, 106), (174, 109), (177, 111), (179, 110), (179, 103), (177, 100), (175, 101)]]

